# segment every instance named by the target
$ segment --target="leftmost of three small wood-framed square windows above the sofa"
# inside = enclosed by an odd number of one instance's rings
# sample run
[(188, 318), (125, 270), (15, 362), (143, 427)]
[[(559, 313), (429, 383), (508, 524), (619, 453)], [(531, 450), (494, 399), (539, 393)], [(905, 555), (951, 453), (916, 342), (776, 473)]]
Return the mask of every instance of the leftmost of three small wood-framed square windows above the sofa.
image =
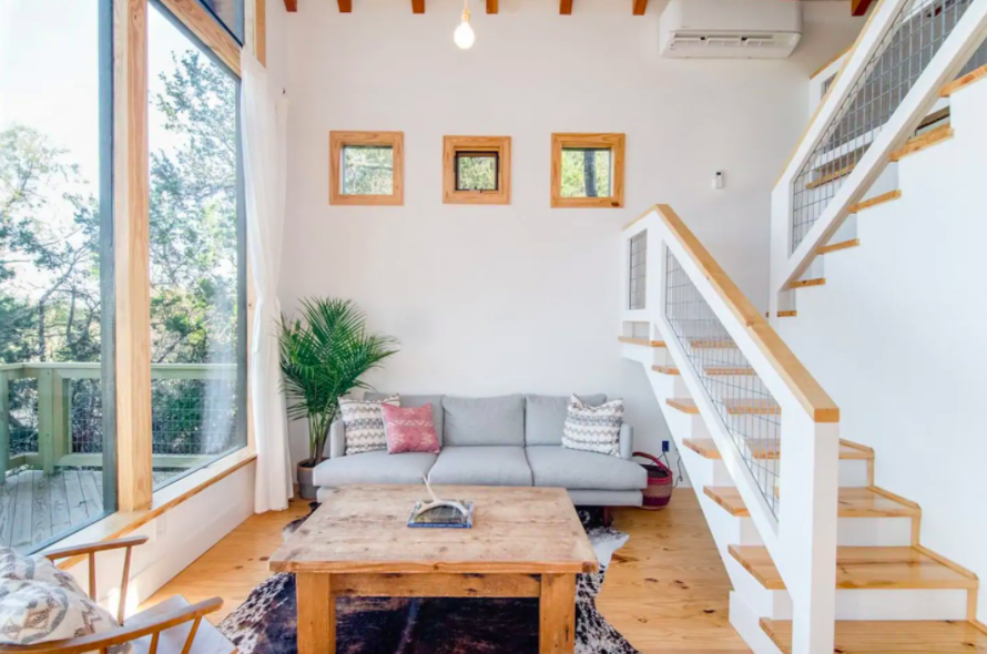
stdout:
[(403, 132), (329, 132), (329, 204), (399, 205)]

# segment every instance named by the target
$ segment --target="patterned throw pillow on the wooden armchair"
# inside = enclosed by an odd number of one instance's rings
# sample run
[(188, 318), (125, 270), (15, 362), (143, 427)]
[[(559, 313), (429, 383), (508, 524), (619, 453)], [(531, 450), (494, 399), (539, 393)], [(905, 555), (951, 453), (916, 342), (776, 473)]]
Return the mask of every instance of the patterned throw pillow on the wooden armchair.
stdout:
[[(50, 643), (118, 626), (75, 580), (44, 556), (0, 550), (0, 644)], [(130, 643), (110, 648), (113, 654), (131, 651)]]

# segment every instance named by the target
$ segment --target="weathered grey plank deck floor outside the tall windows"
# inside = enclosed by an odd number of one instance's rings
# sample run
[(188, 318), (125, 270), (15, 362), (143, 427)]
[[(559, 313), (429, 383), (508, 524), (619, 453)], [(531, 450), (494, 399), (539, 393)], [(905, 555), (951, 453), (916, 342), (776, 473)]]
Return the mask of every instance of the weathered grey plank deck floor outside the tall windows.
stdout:
[[(155, 470), (154, 486), (177, 472)], [(102, 471), (62, 469), (48, 476), (23, 470), (0, 486), (0, 548), (30, 551), (102, 514)]]

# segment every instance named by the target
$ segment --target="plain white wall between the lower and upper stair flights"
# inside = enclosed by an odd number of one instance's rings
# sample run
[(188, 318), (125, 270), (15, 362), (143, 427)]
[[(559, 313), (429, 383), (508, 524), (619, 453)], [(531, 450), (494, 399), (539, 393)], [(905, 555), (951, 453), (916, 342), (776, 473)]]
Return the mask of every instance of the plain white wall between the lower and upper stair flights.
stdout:
[[(902, 198), (861, 212), (782, 336), (876, 450), (876, 483), (922, 505), (922, 543), (987, 579), (987, 83), (952, 99), (956, 136), (898, 163)], [(979, 619), (987, 620), (987, 586)]]

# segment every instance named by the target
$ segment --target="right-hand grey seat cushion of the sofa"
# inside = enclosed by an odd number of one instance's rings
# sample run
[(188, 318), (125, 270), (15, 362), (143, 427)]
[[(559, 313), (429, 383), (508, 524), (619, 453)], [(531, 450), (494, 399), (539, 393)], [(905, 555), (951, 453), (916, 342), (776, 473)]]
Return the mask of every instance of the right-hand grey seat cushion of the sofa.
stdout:
[(535, 486), (570, 490), (641, 490), (648, 473), (619, 457), (556, 446), (526, 448)]

